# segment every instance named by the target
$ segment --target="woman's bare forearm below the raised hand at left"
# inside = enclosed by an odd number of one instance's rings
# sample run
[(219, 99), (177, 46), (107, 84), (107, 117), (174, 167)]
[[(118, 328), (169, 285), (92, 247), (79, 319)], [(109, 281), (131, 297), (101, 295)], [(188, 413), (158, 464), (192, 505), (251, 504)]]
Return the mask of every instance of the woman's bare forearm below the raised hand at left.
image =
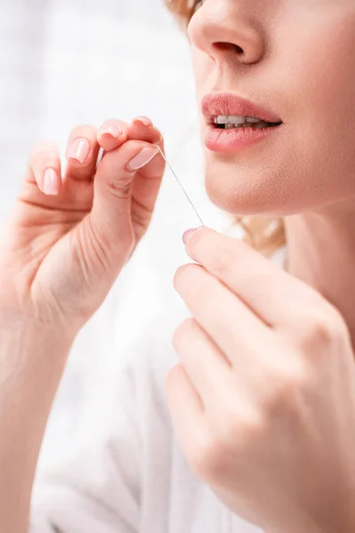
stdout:
[(0, 522), (10, 516), (13, 531), (22, 530), (29, 513), (44, 429), (72, 340), (60, 328), (0, 313)]

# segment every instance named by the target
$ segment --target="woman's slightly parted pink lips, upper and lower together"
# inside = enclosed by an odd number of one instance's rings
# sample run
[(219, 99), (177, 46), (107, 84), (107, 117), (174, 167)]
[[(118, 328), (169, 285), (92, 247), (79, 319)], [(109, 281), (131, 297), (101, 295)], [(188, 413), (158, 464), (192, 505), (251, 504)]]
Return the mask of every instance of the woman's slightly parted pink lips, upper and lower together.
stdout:
[(280, 116), (228, 92), (206, 95), (201, 101), (201, 110), (208, 123), (205, 144), (213, 152), (228, 154), (240, 151), (274, 135), (275, 132), (280, 131), (282, 125), (265, 128), (242, 127), (231, 130), (217, 128), (213, 122), (213, 117), (217, 115), (253, 116), (268, 123), (282, 123)]

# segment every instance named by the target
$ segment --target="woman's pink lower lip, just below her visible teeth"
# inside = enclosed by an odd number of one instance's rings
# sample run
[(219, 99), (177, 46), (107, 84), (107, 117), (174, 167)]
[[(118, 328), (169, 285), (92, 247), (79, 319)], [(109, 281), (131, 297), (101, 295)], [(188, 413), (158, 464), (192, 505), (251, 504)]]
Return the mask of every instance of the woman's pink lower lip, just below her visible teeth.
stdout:
[(245, 148), (251, 147), (278, 131), (280, 126), (270, 126), (266, 128), (232, 128), (224, 130), (209, 124), (206, 134), (205, 144), (213, 152), (229, 154), (239, 152)]

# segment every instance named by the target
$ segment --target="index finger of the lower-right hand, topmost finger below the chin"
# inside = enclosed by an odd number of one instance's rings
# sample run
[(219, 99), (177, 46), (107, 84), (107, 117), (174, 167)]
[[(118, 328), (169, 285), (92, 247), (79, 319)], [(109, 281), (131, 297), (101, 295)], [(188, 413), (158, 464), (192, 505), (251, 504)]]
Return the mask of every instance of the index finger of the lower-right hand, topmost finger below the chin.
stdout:
[(307, 308), (327, 302), (248, 244), (209, 227), (198, 228), (186, 243), (186, 252), (271, 327), (289, 326)]

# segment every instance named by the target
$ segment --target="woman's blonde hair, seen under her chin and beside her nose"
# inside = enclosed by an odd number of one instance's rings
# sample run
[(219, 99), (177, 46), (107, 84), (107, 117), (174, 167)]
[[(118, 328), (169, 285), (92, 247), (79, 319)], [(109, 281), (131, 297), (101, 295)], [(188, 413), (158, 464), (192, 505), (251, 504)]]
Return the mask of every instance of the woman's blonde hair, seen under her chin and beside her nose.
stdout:
[[(185, 31), (194, 12), (195, 0), (164, 0), (170, 12), (174, 14), (180, 28)], [(227, 213), (234, 224), (243, 230), (243, 240), (264, 256), (269, 257), (286, 243), (285, 225), (282, 218), (259, 215), (239, 217)]]

